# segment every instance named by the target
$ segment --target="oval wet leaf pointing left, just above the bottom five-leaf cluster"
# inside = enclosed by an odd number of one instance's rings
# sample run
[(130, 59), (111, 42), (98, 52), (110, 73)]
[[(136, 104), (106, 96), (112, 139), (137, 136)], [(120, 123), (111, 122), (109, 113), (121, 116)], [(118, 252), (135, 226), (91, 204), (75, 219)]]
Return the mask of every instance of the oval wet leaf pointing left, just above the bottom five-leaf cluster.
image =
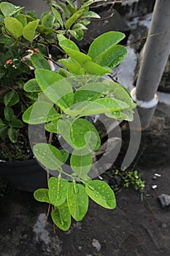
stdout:
[(55, 148), (47, 143), (38, 143), (33, 147), (34, 156), (39, 162), (50, 170), (61, 170), (63, 165), (63, 155)]

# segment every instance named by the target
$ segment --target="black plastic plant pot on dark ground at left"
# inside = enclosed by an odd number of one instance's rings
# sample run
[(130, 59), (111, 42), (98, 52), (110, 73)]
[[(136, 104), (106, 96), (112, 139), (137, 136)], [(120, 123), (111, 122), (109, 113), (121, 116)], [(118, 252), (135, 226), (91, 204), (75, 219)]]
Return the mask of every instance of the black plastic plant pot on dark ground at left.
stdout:
[(47, 172), (36, 159), (0, 162), (0, 177), (7, 179), (12, 186), (28, 192), (47, 187)]

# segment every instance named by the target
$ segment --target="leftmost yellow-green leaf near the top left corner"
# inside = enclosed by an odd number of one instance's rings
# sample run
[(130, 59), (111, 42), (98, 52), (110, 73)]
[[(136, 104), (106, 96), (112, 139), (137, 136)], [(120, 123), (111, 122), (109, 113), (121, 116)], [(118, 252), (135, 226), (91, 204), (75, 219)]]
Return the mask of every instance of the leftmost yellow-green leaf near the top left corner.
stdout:
[(15, 37), (18, 39), (18, 37), (21, 37), (23, 34), (23, 25), (20, 23), (20, 21), (16, 18), (7, 17), (4, 19), (4, 24), (9, 31), (10, 34), (12, 34), (12, 37)]

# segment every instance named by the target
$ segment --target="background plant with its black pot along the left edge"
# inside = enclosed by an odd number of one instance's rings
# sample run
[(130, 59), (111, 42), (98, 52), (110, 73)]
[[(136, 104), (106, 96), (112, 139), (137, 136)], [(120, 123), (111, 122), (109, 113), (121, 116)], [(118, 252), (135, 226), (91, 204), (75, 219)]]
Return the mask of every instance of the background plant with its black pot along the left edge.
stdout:
[[(54, 58), (53, 63), (56, 63), (63, 55), (63, 50), (58, 48), (56, 42), (57, 34), (73, 35), (80, 40), (83, 29), (86, 29), (83, 24), (90, 23), (89, 18), (99, 18), (95, 12), (88, 12), (88, 4), (77, 12), (71, 1), (66, 4), (51, 1), (51, 11), (43, 12), (41, 18), (37, 19), (35, 11), (27, 11), (23, 15), (24, 7), (1, 2), (0, 176), (8, 178), (20, 189), (34, 191), (40, 184), (46, 184), (46, 173), (32, 159), (28, 126), (22, 121), (23, 111), (36, 101), (38, 95), (36, 89), (23, 90), (24, 83), (34, 78), (30, 56), (40, 52), (49, 61)], [(74, 20), (80, 12), (83, 17), (80, 23), (75, 24)], [(68, 28), (70, 22), (73, 23), (72, 29), (66, 29), (64, 23)]]

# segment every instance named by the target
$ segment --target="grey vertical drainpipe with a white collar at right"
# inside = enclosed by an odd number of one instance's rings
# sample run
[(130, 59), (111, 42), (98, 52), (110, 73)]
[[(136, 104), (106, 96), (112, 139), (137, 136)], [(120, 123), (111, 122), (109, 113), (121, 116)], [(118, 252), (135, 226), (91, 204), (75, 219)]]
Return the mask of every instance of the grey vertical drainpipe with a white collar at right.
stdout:
[(170, 54), (170, 0), (156, 0), (136, 88), (131, 96), (138, 105), (141, 127), (149, 126), (158, 104), (157, 89)]

